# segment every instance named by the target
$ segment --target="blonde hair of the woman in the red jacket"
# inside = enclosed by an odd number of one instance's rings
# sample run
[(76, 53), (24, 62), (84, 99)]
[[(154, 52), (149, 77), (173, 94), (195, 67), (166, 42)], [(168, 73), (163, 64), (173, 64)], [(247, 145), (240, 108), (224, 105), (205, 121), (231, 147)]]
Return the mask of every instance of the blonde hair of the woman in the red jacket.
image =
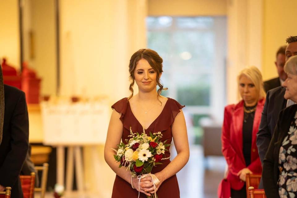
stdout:
[[(266, 93), (264, 91), (264, 87), (263, 87), (263, 80), (262, 80), (262, 75), (260, 70), (255, 67), (255, 66), (250, 66), (250, 67), (246, 67), (243, 70), (241, 70), (237, 76), (237, 84), (239, 86), (239, 79), (242, 75), (245, 75), (246, 77), (248, 77), (253, 84), (256, 87), (256, 90), (259, 93), (259, 99), (262, 99), (266, 96)], [(238, 93), (239, 94), (239, 93)], [(240, 95), (238, 95), (240, 98)]]

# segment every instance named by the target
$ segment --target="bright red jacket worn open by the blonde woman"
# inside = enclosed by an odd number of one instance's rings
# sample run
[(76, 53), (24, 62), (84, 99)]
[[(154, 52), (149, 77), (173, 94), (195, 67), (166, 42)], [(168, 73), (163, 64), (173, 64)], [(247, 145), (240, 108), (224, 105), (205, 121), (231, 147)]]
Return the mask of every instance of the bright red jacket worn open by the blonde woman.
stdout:
[[(256, 145), (256, 134), (258, 132), (259, 124), (261, 121), (261, 114), (265, 99), (258, 101), (257, 109), (255, 112), (253, 130), (252, 130), (252, 148), (251, 148), (251, 164), (246, 166), (243, 157), (243, 100), (237, 105), (227, 105), (224, 113), (224, 123), (222, 127), (222, 153), (228, 164), (228, 174), (225, 183), (230, 183), (230, 187), (235, 190), (240, 190), (244, 182), (239, 179), (237, 173), (243, 168), (248, 168), (254, 174), (262, 173), (261, 161), (258, 154)], [(223, 184), (223, 186), (229, 186)], [(230, 189), (224, 189), (222, 185), (219, 187), (220, 194), (229, 195)], [(226, 191), (226, 192), (224, 192)], [(221, 196), (225, 197), (225, 196)], [(230, 197), (230, 196), (229, 196)], [(228, 197), (228, 198), (229, 198)]]

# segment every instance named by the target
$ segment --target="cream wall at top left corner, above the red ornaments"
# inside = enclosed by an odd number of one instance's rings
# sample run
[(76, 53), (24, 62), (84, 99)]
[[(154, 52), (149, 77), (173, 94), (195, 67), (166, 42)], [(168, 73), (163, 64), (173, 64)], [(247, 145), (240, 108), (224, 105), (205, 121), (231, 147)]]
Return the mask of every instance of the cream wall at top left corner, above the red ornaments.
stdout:
[[(19, 3), (17, 0), (0, 0), (0, 59), (20, 69)], [(2, 61), (0, 62), (2, 63)]]

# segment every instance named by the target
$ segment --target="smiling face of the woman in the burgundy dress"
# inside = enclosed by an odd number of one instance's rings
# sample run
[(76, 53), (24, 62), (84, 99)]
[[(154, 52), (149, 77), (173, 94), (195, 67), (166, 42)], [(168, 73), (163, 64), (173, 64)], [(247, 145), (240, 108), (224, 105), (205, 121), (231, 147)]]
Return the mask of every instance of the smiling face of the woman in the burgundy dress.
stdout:
[(139, 91), (150, 92), (157, 87), (157, 72), (144, 58), (136, 64), (134, 78)]

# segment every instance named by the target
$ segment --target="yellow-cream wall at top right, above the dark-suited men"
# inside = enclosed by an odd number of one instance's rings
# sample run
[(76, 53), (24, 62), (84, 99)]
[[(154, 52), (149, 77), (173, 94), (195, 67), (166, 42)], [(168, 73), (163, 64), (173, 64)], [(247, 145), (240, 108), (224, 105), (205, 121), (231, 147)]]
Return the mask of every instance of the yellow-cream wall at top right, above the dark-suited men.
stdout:
[(263, 20), (263, 76), (277, 76), (274, 65), (275, 53), (286, 45), (288, 36), (297, 35), (297, 1), (264, 0)]

